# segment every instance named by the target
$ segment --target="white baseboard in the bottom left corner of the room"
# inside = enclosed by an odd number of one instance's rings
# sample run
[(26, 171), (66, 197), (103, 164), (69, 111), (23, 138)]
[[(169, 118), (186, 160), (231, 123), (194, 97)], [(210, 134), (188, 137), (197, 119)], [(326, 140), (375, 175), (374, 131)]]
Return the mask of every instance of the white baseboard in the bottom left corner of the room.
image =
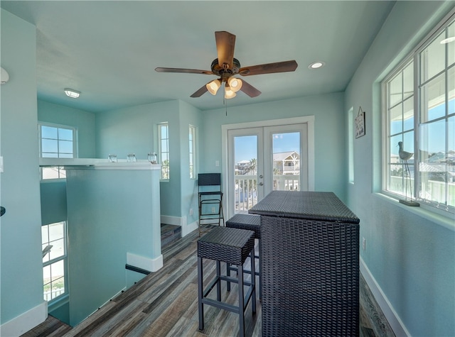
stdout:
[(48, 318), (48, 302), (35, 306), (0, 326), (1, 337), (16, 337), (43, 323)]

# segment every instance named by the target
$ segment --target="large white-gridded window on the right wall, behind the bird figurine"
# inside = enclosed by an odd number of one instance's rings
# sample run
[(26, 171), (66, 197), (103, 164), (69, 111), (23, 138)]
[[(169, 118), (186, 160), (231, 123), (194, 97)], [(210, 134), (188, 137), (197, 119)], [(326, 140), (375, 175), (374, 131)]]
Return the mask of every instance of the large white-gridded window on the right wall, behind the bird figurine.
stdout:
[[(382, 83), (386, 192), (455, 213), (454, 14)], [(402, 150), (412, 153), (400, 158)]]

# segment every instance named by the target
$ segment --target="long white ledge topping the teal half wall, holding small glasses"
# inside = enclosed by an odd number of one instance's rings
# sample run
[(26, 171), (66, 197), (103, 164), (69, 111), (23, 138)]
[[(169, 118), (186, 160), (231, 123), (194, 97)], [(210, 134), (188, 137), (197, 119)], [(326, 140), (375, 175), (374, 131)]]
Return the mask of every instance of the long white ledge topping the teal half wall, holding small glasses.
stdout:
[(65, 170), (161, 170), (161, 165), (151, 164), (149, 160), (109, 162), (100, 158), (40, 158), (40, 166), (64, 166)]

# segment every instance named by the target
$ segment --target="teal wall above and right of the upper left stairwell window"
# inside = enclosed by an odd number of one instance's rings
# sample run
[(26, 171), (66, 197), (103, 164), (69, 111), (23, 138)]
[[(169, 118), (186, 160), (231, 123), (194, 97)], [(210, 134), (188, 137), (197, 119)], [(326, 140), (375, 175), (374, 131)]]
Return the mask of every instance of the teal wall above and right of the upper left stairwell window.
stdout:
[(73, 126), (77, 131), (77, 157), (95, 158), (95, 114), (38, 100), (38, 121)]

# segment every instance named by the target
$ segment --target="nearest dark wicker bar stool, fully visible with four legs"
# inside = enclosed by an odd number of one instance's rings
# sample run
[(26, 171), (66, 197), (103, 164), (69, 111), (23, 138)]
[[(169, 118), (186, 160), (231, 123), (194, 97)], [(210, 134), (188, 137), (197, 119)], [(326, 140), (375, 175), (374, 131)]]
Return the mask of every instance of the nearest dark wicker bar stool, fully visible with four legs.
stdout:
[[(243, 280), (243, 263), (250, 253), (254, 254), (255, 233), (244, 229), (215, 227), (209, 233), (198, 240), (198, 309), (199, 309), (199, 330), (204, 329), (204, 304), (216, 306), (220, 309), (239, 314), (240, 328), (239, 335), (245, 336), (245, 309), (250, 302), (253, 314), (256, 312), (256, 287), (255, 277), (251, 282)], [(203, 258), (216, 261), (215, 279), (203, 287)], [(250, 259), (252, 275), (255, 275), (255, 262)], [(221, 262), (237, 265), (237, 277), (221, 275)], [(221, 301), (221, 281), (235, 282), (238, 284), (238, 306)], [(208, 294), (216, 285), (217, 299), (209, 299)], [(248, 286), (244, 295), (243, 286)]]

